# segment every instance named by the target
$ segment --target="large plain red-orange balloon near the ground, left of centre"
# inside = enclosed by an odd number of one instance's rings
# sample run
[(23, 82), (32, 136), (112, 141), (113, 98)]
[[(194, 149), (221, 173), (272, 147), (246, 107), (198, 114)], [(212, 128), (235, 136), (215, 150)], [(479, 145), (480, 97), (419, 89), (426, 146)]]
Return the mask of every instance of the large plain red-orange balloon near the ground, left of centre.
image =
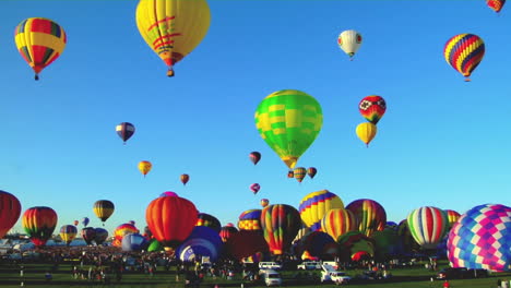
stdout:
[(173, 253), (195, 227), (198, 214), (187, 199), (157, 197), (145, 209), (145, 220), (156, 240)]

